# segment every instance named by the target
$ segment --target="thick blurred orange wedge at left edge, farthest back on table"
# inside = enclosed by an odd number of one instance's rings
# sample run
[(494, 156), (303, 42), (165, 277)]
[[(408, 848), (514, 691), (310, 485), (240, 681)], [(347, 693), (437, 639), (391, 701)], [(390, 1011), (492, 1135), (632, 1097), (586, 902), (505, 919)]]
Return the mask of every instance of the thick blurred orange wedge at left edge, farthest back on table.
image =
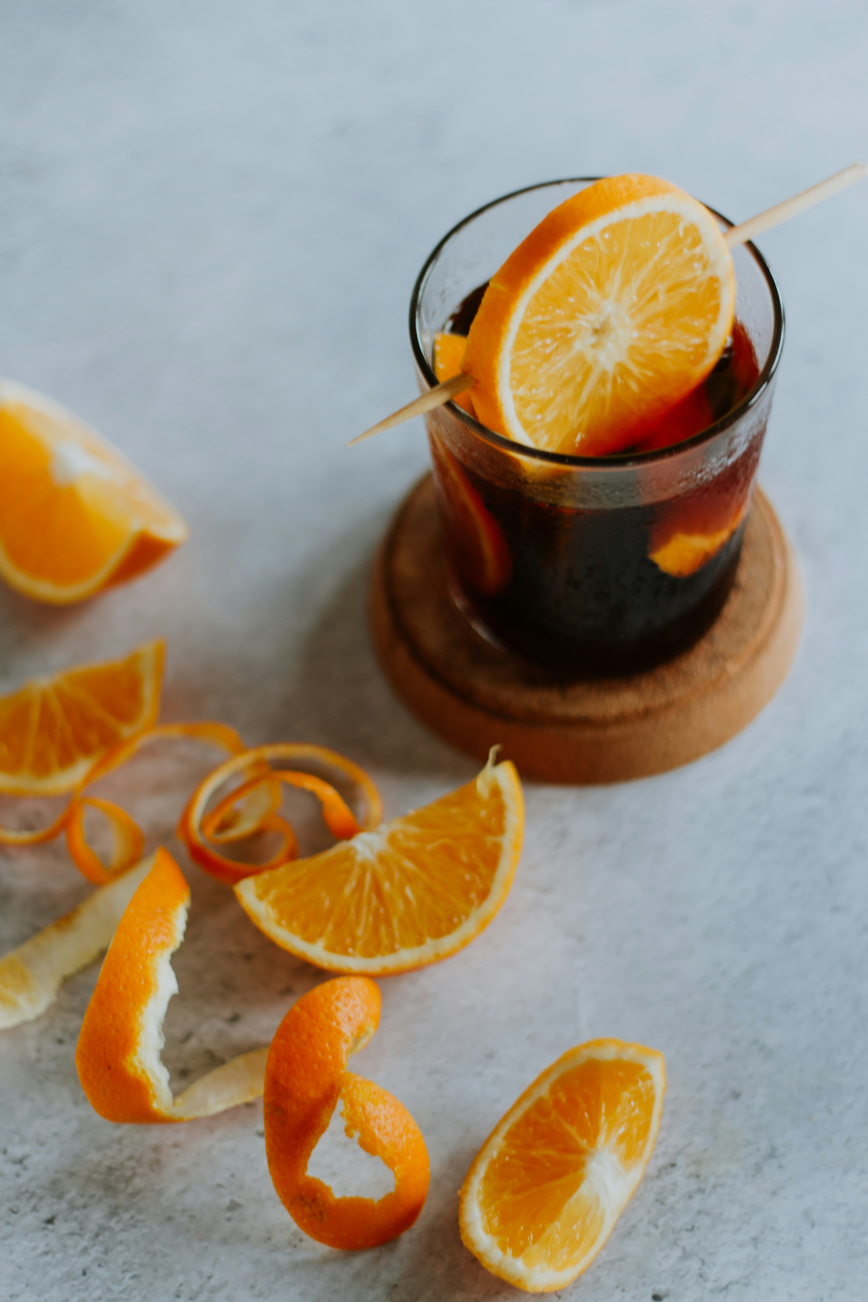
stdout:
[(135, 578), (187, 536), (178, 513), (72, 413), (0, 380), (0, 577), (65, 605)]

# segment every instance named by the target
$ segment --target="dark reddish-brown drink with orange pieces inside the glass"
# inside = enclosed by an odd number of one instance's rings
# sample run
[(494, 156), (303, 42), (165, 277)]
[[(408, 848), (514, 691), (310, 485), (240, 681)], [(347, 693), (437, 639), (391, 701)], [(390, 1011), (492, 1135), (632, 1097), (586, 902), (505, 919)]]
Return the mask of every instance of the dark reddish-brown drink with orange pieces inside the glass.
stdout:
[[(450, 331), (467, 333), (484, 290), (463, 299)], [(759, 371), (737, 322), (700, 389), (606, 461), (626, 467), (638, 453), (700, 434), (742, 402)], [(708, 483), (648, 505), (593, 510), (498, 483), (429, 434), (453, 592), (488, 637), (558, 672), (621, 674), (683, 650), (713, 622), (738, 565), (761, 437)]]

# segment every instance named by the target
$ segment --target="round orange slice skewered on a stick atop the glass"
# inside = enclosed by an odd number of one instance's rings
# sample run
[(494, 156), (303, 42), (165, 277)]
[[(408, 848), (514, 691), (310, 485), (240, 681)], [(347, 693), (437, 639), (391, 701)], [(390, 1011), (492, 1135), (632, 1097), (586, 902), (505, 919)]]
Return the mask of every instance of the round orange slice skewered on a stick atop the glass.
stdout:
[(461, 363), (476, 417), (550, 452), (619, 452), (708, 375), (734, 306), (708, 208), (652, 176), (597, 181), (492, 277)]

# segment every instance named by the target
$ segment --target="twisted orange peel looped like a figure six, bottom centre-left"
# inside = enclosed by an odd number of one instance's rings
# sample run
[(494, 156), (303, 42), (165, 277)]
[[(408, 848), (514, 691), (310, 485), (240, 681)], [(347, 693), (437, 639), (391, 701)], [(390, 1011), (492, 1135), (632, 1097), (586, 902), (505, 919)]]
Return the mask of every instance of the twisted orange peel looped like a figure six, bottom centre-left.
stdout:
[[(329, 1247), (388, 1243), (409, 1229), (428, 1193), (428, 1150), (402, 1103), (346, 1070), (380, 1022), (380, 991), (338, 976), (303, 995), (277, 1027), (265, 1064), (268, 1170), (295, 1224)], [(307, 1163), (341, 1104), (346, 1134), (394, 1174), (384, 1198), (336, 1198)]]

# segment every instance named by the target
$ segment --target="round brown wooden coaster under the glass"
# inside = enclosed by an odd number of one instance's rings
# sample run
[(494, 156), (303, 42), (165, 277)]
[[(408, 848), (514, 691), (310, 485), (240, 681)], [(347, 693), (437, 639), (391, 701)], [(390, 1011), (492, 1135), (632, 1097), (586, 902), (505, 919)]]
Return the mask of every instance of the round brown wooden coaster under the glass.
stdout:
[(500, 742), (524, 777), (549, 783), (647, 777), (722, 745), (783, 681), (802, 609), (793, 549), (759, 490), (712, 629), (631, 677), (563, 684), (475, 633), (449, 595), (431, 475), (402, 503), (371, 583), (376, 651), (413, 712), (476, 759)]

